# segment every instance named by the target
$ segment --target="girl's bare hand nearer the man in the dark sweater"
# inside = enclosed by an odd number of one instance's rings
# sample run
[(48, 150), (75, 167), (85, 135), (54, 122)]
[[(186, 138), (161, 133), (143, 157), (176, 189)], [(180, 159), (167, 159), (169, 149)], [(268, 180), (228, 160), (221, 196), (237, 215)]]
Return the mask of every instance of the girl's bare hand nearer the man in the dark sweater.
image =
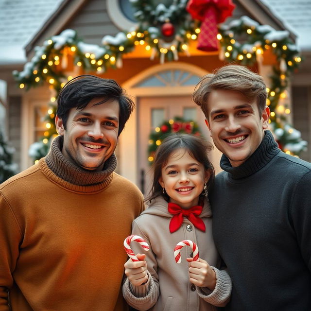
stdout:
[(189, 264), (190, 282), (196, 286), (207, 287), (213, 291), (216, 287), (216, 274), (207, 261), (199, 258), (193, 261), (193, 258), (187, 258)]

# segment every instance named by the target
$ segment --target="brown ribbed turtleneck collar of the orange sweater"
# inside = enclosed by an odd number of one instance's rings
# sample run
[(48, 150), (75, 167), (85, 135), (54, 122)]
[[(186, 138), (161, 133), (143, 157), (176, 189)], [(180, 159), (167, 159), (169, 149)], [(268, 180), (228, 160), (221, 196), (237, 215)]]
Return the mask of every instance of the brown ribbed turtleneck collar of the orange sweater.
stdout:
[(75, 166), (62, 154), (63, 137), (56, 137), (51, 145), (49, 154), (39, 161), (43, 173), (57, 184), (69, 190), (94, 192), (104, 189), (112, 180), (112, 173), (117, 166), (115, 154), (104, 163), (100, 172), (86, 171)]

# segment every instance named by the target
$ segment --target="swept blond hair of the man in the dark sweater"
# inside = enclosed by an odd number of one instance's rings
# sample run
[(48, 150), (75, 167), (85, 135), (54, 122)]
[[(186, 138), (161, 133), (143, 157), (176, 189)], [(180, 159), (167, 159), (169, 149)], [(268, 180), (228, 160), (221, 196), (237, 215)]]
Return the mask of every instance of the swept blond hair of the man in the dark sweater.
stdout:
[(195, 86), (192, 100), (201, 107), (208, 119), (207, 102), (212, 90), (223, 89), (241, 92), (247, 101), (257, 98), (259, 113), (266, 106), (266, 85), (261, 76), (241, 65), (226, 65), (202, 77)]

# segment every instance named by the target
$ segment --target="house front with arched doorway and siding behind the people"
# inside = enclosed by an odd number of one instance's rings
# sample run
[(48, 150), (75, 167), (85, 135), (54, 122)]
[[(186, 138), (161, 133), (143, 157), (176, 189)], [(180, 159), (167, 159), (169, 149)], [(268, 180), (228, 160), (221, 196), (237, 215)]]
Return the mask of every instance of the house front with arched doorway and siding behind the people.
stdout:
[[(287, 29), (261, 1), (235, 0), (233, 2), (236, 7), (233, 15), (227, 18), (226, 22), (248, 16), (260, 25), (270, 25), (280, 31), (287, 30), (295, 40), (294, 33)], [(125, 0), (60, 1), (59, 6), (25, 47), (27, 59), (31, 60), (35, 55), (35, 47), (42, 46), (48, 38), (59, 35), (66, 29), (76, 31), (86, 44), (101, 45), (106, 35), (115, 37), (119, 32), (130, 31), (131, 27), (135, 27), (131, 10), (129, 1)], [(132, 52), (124, 54), (120, 68), (109, 68), (100, 73), (90, 72), (117, 80), (126, 92), (133, 96), (136, 109), (121, 134), (116, 150), (117, 172), (135, 182), (143, 192), (146, 192), (149, 187), (149, 135), (163, 121), (176, 117), (185, 121), (196, 121), (201, 133), (210, 140), (204, 116), (191, 102), (191, 95), (199, 79), (212, 70), (224, 66), (225, 61), (220, 57), (219, 51), (197, 50), (196, 43), (193, 40), (189, 46), (190, 56), (180, 53), (178, 60), (164, 62), (160, 62), (158, 57), (151, 59), (151, 53), (138, 45)], [(275, 58), (268, 55), (253, 68), (264, 76), (267, 86), (270, 84), (269, 74), (275, 63)], [(33, 159), (28, 155), (29, 147), (46, 131), (44, 117), (51, 99), (55, 96), (55, 92), (48, 84), (30, 88), (28, 91), (18, 88), (11, 71), (12, 69), (23, 70), (22, 65), (16, 64), (14, 68), (12, 64), (0, 65), (0, 79), (7, 82), (8, 136), (17, 150), (15, 160), (20, 170), (33, 164)], [(304, 66), (301, 67), (304, 69)], [(308, 125), (311, 121), (311, 96), (308, 81), (311, 79), (307, 80), (307, 78), (310, 75), (310, 68), (306, 71), (299, 69), (294, 73), (292, 79), (294, 87), (288, 86), (286, 99), (288, 106), (294, 110), (294, 115), (288, 116), (289, 120), (294, 122), (294, 126), (299, 125), (298, 129), (304, 135), (303, 138), (309, 142), (311, 141), (311, 130)], [(86, 72), (77, 66), (67, 67), (68, 76), (82, 73)], [(301, 114), (304, 118), (301, 118)], [(220, 153), (216, 148), (210, 158), (216, 172), (219, 172)], [(310, 161), (310, 152), (306, 152), (304, 158)]]

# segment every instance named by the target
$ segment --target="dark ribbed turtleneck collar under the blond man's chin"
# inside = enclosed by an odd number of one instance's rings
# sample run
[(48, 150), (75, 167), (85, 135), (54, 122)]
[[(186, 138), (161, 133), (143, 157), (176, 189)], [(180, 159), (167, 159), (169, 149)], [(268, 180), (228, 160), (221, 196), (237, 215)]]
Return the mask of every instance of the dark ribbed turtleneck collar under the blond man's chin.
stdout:
[(240, 166), (232, 167), (229, 159), (225, 155), (222, 155), (220, 167), (228, 172), (229, 176), (233, 179), (244, 178), (258, 172), (279, 153), (279, 151), (280, 149), (272, 133), (266, 130), (259, 147), (244, 163)]

